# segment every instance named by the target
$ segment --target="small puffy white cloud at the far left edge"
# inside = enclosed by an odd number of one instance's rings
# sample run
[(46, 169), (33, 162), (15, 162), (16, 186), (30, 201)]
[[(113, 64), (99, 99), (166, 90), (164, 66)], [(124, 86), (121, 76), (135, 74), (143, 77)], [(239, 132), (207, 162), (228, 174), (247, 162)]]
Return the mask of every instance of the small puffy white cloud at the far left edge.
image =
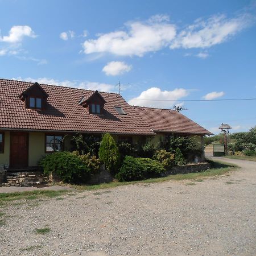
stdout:
[(0, 36), (0, 42), (20, 43), (24, 37), (36, 38), (35, 32), (29, 26), (13, 26), (8, 36)]

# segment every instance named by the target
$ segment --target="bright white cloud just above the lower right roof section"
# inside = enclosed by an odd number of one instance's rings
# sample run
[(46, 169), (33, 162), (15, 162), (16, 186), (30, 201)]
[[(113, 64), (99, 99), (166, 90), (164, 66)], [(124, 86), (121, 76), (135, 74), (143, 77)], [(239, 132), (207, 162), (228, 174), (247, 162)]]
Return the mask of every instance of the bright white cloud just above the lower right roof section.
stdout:
[[(172, 108), (180, 98), (188, 96), (188, 90), (178, 88), (174, 90), (161, 90), (152, 87), (144, 90), (138, 97), (132, 98), (128, 103), (135, 106), (150, 106), (154, 108)], [(173, 101), (170, 101), (173, 100)]]

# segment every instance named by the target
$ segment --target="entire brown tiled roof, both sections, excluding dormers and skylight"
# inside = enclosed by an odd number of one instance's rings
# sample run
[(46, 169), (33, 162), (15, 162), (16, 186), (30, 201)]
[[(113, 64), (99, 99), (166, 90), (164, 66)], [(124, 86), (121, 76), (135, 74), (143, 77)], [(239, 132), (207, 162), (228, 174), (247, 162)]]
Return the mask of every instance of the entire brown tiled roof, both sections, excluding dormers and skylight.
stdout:
[[(153, 135), (155, 132), (211, 134), (175, 110), (130, 106), (117, 93), (100, 92), (104, 115), (89, 114), (79, 102), (92, 90), (40, 84), (49, 95), (46, 110), (26, 109), (19, 95), (31, 82), (0, 79), (0, 129), (81, 131)], [(114, 109), (120, 106), (126, 115)], [(154, 130), (154, 131), (153, 131)]]

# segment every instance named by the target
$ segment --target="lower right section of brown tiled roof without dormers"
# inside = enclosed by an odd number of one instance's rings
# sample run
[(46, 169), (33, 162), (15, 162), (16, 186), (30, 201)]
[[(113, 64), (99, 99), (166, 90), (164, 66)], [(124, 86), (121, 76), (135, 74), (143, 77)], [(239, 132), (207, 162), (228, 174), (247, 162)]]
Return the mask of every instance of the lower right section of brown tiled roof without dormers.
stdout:
[(155, 133), (212, 134), (176, 110), (139, 106), (135, 106), (135, 110)]

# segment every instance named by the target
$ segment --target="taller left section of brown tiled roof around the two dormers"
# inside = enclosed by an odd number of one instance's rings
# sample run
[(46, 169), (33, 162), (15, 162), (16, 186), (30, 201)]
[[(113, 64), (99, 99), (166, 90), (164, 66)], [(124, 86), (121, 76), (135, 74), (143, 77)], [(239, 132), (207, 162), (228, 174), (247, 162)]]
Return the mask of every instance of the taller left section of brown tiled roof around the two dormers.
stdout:
[[(33, 84), (0, 79), (0, 128), (154, 134), (117, 93), (100, 92), (105, 110), (104, 115), (96, 115), (79, 104), (91, 90), (40, 84), (49, 94), (46, 110), (26, 109), (19, 95)], [(127, 115), (119, 115), (114, 106), (121, 106)]]

